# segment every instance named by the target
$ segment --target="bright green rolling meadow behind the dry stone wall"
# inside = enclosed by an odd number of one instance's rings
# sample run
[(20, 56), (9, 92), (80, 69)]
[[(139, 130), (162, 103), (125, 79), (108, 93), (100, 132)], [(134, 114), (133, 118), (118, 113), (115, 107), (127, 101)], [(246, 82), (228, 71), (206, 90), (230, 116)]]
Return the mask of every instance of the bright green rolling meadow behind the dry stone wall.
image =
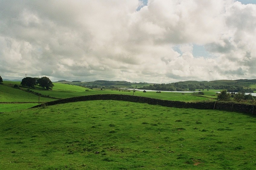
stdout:
[[(4, 85), (0, 85), (0, 112), (15, 111), (21, 109), (27, 109), (38, 104), (38, 95), (28, 92), (28, 88), (13, 88), (14, 85), (20, 85), (20, 82), (4, 81)], [(40, 93), (40, 104), (53, 101), (57, 99), (78, 97), (93, 94), (126, 94), (136, 95), (143, 97), (151, 97), (162, 100), (174, 100), (174, 101), (185, 101), (185, 102), (197, 102), (205, 100), (215, 100), (216, 92), (204, 91), (205, 95), (197, 96), (193, 93), (178, 93), (178, 92), (146, 92), (142, 91), (127, 91), (127, 90), (116, 90), (116, 89), (89, 89), (77, 85), (69, 85), (62, 83), (53, 83), (53, 90), (45, 90), (38, 86), (30, 88), (30, 91)], [(22, 89), (22, 90), (21, 90)], [(52, 97), (52, 98), (49, 98)], [(12, 105), (15, 103), (15, 105)]]

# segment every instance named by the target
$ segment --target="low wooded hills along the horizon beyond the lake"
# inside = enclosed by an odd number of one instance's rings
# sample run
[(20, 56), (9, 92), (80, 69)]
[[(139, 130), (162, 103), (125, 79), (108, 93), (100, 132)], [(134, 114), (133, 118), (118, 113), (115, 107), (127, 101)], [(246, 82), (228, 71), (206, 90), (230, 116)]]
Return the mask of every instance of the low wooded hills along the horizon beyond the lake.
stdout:
[(146, 90), (159, 91), (194, 91), (195, 89), (227, 89), (229, 92), (253, 92), (256, 91), (256, 79), (238, 80), (214, 80), (214, 81), (184, 81), (175, 83), (146, 83), (146, 82), (127, 82), (127, 81), (107, 81), (96, 80), (94, 82), (66, 81), (60, 80), (56, 83), (86, 86), (89, 88), (139, 88)]

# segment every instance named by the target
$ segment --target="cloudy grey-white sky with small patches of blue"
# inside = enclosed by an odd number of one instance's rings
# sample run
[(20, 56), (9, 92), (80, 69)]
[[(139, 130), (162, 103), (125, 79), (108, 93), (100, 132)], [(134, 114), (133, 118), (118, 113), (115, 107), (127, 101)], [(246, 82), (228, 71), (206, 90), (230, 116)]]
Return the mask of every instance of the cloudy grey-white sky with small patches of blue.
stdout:
[(0, 0), (0, 76), (256, 79), (256, 0)]

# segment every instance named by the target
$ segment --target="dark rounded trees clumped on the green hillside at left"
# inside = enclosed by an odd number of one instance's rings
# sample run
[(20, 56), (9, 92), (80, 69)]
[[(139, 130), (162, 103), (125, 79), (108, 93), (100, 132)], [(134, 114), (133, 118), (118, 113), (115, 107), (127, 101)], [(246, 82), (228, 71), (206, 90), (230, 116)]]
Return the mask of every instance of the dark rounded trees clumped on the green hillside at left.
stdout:
[(53, 88), (53, 83), (48, 77), (42, 78), (32, 78), (32, 77), (25, 77), (21, 80), (21, 85), (34, 87), (35, 85), (39, 85), (42, 88), (46, 88), (47, 90), (51, 90)]

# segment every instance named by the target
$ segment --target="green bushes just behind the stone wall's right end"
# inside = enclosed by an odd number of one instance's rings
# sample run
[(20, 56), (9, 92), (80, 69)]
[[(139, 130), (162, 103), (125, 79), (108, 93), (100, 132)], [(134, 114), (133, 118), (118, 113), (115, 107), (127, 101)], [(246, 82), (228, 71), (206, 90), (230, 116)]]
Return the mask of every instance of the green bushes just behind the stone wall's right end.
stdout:
[(254, 97), (251, 94), (245, 94), (244, 92), (238, 93), (229, 93), (227, 90), (222, 90), (218, 96), (217, 100), (230, 101), (231, 98), (234, 98), (235, 101), (241, 102), (242, 100), (254, 100)]

